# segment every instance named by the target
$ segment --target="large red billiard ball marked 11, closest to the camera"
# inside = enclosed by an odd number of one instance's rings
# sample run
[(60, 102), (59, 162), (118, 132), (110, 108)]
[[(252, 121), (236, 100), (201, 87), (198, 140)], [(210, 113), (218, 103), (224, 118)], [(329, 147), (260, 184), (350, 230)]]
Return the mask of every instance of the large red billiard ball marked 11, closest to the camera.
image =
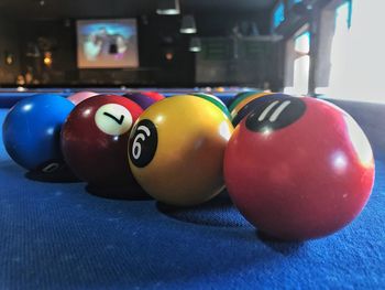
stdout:
[(353, 221), (374, 181), (372, 149), (359, 125), (309, 97), (256, 103), (224, 155), (227, 189), (240, 212), (286, 240), (330, 235)]

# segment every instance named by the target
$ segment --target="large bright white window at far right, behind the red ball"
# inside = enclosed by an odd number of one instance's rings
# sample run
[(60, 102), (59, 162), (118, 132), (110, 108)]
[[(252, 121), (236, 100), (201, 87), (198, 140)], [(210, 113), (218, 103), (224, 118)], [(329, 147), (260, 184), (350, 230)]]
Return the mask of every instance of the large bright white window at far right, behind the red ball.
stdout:
[(384, 11), (378, 0), (345, 1), (336, 9), (328, 97), (385, 103)]

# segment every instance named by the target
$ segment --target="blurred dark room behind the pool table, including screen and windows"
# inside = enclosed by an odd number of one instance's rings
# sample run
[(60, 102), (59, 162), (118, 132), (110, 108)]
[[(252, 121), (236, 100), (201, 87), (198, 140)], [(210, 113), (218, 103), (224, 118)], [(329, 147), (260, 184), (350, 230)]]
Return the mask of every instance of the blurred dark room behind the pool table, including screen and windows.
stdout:
[(1, 87), (255, 87), (385, 101), (383, 0), (1, 0)]

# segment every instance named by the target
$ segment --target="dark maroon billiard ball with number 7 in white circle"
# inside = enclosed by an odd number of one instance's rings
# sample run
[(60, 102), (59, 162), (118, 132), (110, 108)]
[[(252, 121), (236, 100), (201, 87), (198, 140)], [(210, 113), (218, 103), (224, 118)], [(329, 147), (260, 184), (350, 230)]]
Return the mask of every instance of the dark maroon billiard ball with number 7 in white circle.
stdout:
[(78, 104), (62, 131), (63, 154), (75, 175), (91, 185), (130, 183), (129, 135), (142, 111), (132, 100), (114, 95)]

